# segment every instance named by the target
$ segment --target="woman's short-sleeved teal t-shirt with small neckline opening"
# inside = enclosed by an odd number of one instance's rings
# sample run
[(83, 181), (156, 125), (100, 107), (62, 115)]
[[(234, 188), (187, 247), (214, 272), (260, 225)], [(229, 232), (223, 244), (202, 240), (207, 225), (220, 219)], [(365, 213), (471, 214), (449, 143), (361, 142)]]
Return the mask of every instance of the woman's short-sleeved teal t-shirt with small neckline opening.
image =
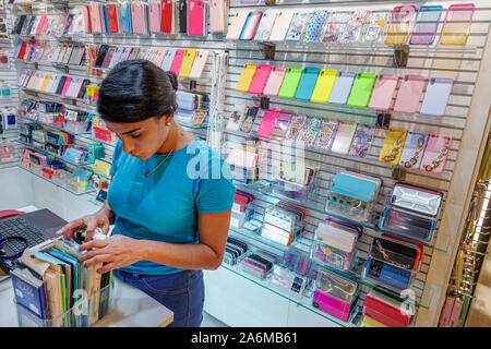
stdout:
[[(149, 171), (166, 156), (153, 155), (147, 160)], [(200, 139), (171, 153), (148, 179), (146, 169), (146, 161), (124, 153), (118, 141), (107, 196), (116, 215), (112, 234), (178, 244), (199, 243), (197, 213), (217, 214), (232, 207), (236, 188), (230, 169)], [(121, 270), (166, 275), (182, 269), (140, 261)]]

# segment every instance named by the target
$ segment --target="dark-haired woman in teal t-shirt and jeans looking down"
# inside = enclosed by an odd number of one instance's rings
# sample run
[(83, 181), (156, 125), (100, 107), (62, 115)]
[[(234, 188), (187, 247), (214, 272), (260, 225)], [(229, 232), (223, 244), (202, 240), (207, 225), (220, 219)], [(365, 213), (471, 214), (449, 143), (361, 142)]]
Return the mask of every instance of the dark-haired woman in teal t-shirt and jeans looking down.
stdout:
[[(201, 269), (223, 260), (235, 186), (224, 159), (172, 119), (177, 79), (143, 60), (117, 64), (99, 89), (98, 112), (113, 131), (112, 182), (103, 208), (69, 222), (86, 227), (85, 266), (106, 263), (175, 312), (171, 326), (200, 326)], [(92, 240), (95, 228), (111, 237)]]

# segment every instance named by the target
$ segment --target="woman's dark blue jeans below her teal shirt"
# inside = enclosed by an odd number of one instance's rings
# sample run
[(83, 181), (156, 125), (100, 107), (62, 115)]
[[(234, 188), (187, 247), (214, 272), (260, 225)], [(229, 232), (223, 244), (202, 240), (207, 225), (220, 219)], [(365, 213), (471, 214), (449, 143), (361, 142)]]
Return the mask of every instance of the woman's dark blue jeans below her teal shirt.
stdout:
[(173, 312), (169, 327), (200, 327), (203, 320), (204, 281), (202, 270), (170, 275), (142, 275), (115, 269), (113, 275)]

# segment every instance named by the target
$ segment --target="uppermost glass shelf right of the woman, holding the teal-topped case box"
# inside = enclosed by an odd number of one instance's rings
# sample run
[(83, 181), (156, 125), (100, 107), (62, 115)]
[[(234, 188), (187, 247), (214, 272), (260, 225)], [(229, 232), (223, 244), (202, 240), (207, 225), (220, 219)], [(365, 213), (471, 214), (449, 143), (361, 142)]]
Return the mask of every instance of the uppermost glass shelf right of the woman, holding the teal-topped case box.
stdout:
[[(233, 184), (237, 188), (246, 190), (248, 192), (252, 192), (252, 193), (255, 193), (255, 194), (259, 194), (259, 195), (268, 196), (271, 198), (275, 198), (275, 200), (278, 200), (278, 201), (285, 201), (285, 202), (291, 203), (294, 205), (298, 205), (300, 207), (313, 210), (315, 213), (319, 213), (319, 214), (322, 214), (322, 215), (325, 215), (325, 216), (338, 218), (338, 219), (342, 219), (342, 220), (345, 220), (345, 221), (349, 221), (349, 222), (362, 226), (362, 227), (364, 227), (364, 228), (367, 228), (369, 230), (373, 230), (373, 231), (379, 232), (379, 233), (384, 232), (384, 233), (390, 233), (390, 234), (393, 234), (393, 236), (398, 236), (398, 237), (400, 237), (403, 239), (407, 239), (406, 237), (399, 236), (396, 232), (388, 232), (388, 231), (384, 231), (384, 230), (380, 229), (379, 226), (376, 225), (378, 215), (372, 215), (369, 222), (361, 222), (361, 221), (358, 221), (358, 220), (354, 220), (354, 219), (350, 219), (350, 218), (347, 218), (347, 217), (344, 217), (344, 216), (340, 216), (340, 215), (336, 215), (336, 214), (326, 212), (325, 210), (325, 203), (322, 203), (322, 202), (314, 202), (312, 200), (307, 201), (306, 203), (298, 202), (296, 200), (292, 200), (292, 198), (289, 198), (289, 197), (286, 197), (286, 196), (280, 196), (280, 195), (273, 194), (272, 190), (270, 189), (271, 186), (270, 188), (259, 186), (258, 183), (252, 183), (252, 184), (248, 184), (247, 185), (247, 184), (243, 184), (243, 183), (240, 183), (240, 182), (233, 180)], [(448, 239), (448, 237), (446, 234), (442, 234), (442, 232), (440, 230), (436, 230), (436, 231), (438, 231), (438, 233), (433, 233), (432, 243), (426, 243), (426, 242), (418, 242), (418, 243), (423, 245), (423, 246), (426, 246), (426, 248), (430, 248), (432, 250), (446, 253), (450, 239)], [(440, 236), (440, 234), (443, 236), (443, 241), (441, 241), (441, 243), (438, 246), (435, 246), (434, 243), (436, 242), (438, 236)], [(366, 230), (366, 236), (374, 238), (378, 234), (370, 234)]]

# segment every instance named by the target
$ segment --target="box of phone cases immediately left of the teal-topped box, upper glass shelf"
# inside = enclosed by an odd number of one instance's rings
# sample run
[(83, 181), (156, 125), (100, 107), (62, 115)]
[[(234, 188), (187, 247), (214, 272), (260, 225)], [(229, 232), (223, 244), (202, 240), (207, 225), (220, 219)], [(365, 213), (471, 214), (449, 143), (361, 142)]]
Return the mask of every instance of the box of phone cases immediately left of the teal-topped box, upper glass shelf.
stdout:
[(303, 202), (315, 186), (318, 172), (319, 167), (280, 161), (274, 168), (273, 193)]

